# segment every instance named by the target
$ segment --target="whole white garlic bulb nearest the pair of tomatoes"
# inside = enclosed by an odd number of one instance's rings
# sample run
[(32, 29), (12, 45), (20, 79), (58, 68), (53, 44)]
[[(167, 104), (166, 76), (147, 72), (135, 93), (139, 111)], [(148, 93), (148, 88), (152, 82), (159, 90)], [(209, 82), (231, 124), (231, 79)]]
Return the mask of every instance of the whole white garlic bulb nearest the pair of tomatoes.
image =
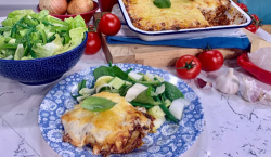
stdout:
[(233, 69), (229, 68), (227, 75), (221, 75), (216, 79), (216, 88), (225, 94), (235, 94), (238, 91), (238, 78), (233, 75)]

